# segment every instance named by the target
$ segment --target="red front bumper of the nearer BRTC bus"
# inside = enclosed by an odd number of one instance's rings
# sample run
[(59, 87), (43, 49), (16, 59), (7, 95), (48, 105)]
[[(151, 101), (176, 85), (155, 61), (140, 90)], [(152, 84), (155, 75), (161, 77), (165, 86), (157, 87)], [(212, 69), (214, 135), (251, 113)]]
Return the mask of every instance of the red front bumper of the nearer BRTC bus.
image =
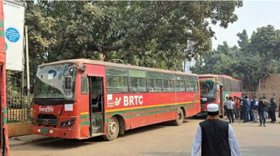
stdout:
[(31, 125), (31, 134), (45, 135), (53, 138), (81, 139), (77, 128), (55, 128)]

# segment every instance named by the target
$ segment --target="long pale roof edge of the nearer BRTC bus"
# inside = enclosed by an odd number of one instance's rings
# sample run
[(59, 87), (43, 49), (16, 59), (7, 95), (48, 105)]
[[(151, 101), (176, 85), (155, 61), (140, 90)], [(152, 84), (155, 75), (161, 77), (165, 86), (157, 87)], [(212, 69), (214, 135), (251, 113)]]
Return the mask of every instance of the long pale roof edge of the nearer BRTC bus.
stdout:
[(198, 75), (188, 72), (179, 72), (174, 70), (162, 70), (158, 68), (147, 68), (147, 67), (139, 67), (136, 65), (125, 65), (125, 64), (119, 64), (119, 63), (110, 63), (110, 62), (104, 62), (104, 61), (94, 61), (90, 59), (71, 59), (71, 60), (64, 60), (64, 61), (57, 61), (52, 63), (45, 63), (42, 65), (39, 65), (38, 67), (46, 66), (46, 65), (57, 65), (62, 63), (76, 63), (76, 64), (94, 64), (94, 65), (105, 65), (105, 66), (113, 66), (113, 67), (119, 67), (119, 68), (130, 68), (130, 69), (137, 69), (137, 70), (149, 70), (154, 72), (167, 72), (172, 74), (179, 74), (179, 75), (191, 75), (196, 76)]

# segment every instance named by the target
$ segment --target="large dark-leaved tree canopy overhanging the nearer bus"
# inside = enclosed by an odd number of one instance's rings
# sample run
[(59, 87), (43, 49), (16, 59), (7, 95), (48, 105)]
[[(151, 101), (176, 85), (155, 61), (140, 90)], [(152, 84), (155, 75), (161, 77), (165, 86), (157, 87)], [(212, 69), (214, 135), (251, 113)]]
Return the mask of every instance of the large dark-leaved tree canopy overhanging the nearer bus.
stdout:
[[(237, 20), (242, 1), (28, 1), (31, 86), (36, 67), (64, 59), (122, 60), (182, 70)], [(101, 55), (102, 54), (102, 55)]]

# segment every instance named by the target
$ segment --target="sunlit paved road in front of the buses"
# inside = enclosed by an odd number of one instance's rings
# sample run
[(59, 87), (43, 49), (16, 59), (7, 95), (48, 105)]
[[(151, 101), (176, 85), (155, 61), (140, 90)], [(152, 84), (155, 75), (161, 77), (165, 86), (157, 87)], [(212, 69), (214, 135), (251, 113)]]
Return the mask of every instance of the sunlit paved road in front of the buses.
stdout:
[[(141, 127), (126, 132), (114, 141), (102, 137), (86, 140), (54, 139), (43, 143), (26, 144), (11, 148), (11, 155), (190, 155), (198, 123), (202, 119), (188, 118), (176, 127), (166, 124)], [(279, 156), (280, 124), (233, 124), (242, 155)]]

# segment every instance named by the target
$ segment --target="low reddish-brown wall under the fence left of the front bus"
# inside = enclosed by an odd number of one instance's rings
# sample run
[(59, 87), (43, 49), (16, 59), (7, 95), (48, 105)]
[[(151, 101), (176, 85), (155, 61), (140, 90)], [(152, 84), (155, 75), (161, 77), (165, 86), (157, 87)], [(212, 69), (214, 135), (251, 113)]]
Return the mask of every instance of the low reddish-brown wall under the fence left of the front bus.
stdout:
[(8, 123), (8, 137), (31, 134), (31, 123)]

